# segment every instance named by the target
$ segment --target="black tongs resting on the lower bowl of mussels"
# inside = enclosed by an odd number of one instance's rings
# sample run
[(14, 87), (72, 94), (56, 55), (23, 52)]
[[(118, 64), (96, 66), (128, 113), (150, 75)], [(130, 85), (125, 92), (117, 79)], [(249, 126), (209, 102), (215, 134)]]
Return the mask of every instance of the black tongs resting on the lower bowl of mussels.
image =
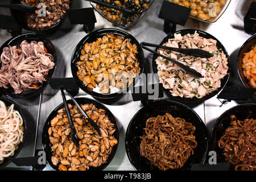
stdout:
[[(79, 138), (77, 136), (76, 129), (73, 125), (72, 117), (71, 117), (70, 111), (68, 109), (67, 100), (66, 100), (66, 97), (65, 97), (65, 94), (64, 94), (64, 86), (61, 86), (60, 90), (61, 90), (61, 96), (63, 98), (64, 107), (65, 107), (65, 110), (66, 110), (66, 113), (67, 113), (67, 116), (68, 116), (68, 122), (69, 122), (69, 125), (71, 127), (72, 140), (76, 144), (76, 146), (79, 147)], [(89, 121), (90, 125), (93, 126), (93, 128), (98, 132), (99, 135), (101, 135), (100, 128), (98, 127), (98, 125), (96, 125), (96, 123), (88, 117), (88, 115), (85, 113), (85, 111), (82, 110), (82, 107), (76, 102), (75, 98), (68, 92), (68, 90), (67, 89), (65, 89), (65, 90), (68, 93), (68, 96), (71, 97), (71, 100), (77, 106), (77, 109), (79, 109), (81, 111), (82, 115), (84, 115), (84, 117)]]

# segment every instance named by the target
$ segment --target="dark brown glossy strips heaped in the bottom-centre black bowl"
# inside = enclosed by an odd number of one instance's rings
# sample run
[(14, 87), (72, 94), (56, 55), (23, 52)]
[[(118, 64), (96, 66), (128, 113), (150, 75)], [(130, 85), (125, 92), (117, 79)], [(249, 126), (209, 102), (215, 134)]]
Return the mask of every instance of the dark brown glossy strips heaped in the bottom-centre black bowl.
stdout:
[(148, 118), (144, 130), (146, 135), (140, 137), (141, 156), (162, 171), (183, 167), (197, 147), (193, 135), (196, 127), (169, 113)]

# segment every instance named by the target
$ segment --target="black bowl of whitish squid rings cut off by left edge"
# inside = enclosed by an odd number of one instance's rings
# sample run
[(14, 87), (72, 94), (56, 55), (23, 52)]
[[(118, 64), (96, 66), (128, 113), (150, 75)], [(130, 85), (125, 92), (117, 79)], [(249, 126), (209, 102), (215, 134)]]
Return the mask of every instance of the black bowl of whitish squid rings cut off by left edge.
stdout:
[(19, 154), (26, 128), (20, 107), (7, 98), (0, 98), (0, 168), (7, 166)]

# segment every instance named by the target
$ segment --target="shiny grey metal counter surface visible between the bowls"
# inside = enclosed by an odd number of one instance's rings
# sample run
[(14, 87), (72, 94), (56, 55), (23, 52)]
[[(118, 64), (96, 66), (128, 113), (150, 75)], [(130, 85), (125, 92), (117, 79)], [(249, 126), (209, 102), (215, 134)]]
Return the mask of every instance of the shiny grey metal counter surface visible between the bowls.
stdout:
[[(163, 32), (163, 20), (157, 18), (162, 5), (163, 0), (156, 0), (153, 5), (150, 7), (150, 10), (137, 22), (133, 27), (126, 30), (131, 35), (137, 38), (138, 42), (151, 42), (158, 44), (166, 34)], [(7, 1), (0, 0), (0, 3), (7, 3)], [(185, 26), (177, 26), (177, 30), (184, 28), (195, 28), (203, 31), (207, 31), (209, 34), (215, 36), (227, 49), (230, 59), (232, 61), (232, 74), (230, 76), (230, 81), (228, 85), (240, 85), (242, 82), (238, 79), (236, 61), (237, 54), (242, 46), (242, 44), (250, 38), (250, 35), (246, 34), (243, 31), (243, 16), (245, 15), (247, 8), (250, 5), (250, 1), (242, 0), (233, 0), (230, 2), (228, 9), (217, 20), (216, 23), (204, 23), (199, 22), (195, 19), (189, 18)], [(73, 1), (73, 8), (78, 7), (90, 7), (88, 2), (82, 0)], [(8, 11), (3, 11), (0, 9), (1, 14), (9, 14)], [(112, 23), (104, 19), (96, 13), (97, 23), (95, 29), (98, 28), (119, 28), (113, 26)], [(121, 28), (119, 28), (121, 29)], [(23, 31), (25, 32), (25, 31)], [(3, 44), (11, 36), (6, 31), (0, 31), (0, 44)], [(84, 38), (85, 32), (82, 31), (82, 26), (71, 26), (69, 20), (65, 19), (64, 23), (61, 25), (60, 30), (55, 32), (55, 34), (50, 35), (50, 39), (54, 44), (57, 51), (58, 64), (56, 67), (55, 75), (53, 77), (72, 77), (70, 62), (73, 50), (75, 49), (77, 43)], [(146, 71), (148, 73), (152, 72), (152, 54), (144, 51), (146, 57)], [(40, 104), (40, 96), (42, 96), (42, 104)], [(92, 98), (88, 94), (80, 90), (78, 97), (88, 97)], [(168, 99), (167, 96), (161, 99)], [(27, 119), (28, 127), (28, 139), (26, 140), (22, 151), (19, 154), (19, 157), (23, 156), (32, 156), (35, 146), (35, 135), (36, 135), (36, 123), (39, 121), (38, 126), (38, 138), (36, 142), (36, 148), (42, 148), (42, 130), (44, 122), (46, 121), (48, 115), (53, 109), (59, 104), (61, 104), (62, 98), (61, 93), (52, 90), (49, 86), (44, 89), (41, 95), (38, 95), (34, 98), (27, 99), (14, 99), (14, 101), (22, 107), (22, 110)], [(247, 102), (256, 102), (255, 96), (251, 96), (250, 100)], [(114, 114), (115, 118), (118, 121), (119, 127), (119, 146), (117, 154), (115, 155), (112, 162), (105, 170), (134, 170), (131, 166), (125, 151), (125, 132), (126, 128), (129, 125), (131, 118), (134, 114), (141, 109), (141, 102), (134, 102), (132, 100), (131, 94), (125, 94), (120, 100), (116, 101), (114, 104), (109, 105), (104, 103), (110, 111)], [(222, 105), (218, 101), (217, 96), (213, 97), (202, 104), (199, 105), (189, 105), (196, 111), (197, 114), (203, 119), (207, 129), (210, 133), (212, 126), (216, 119), (220, 117), (225, 110), (237, 105), (237, 102), (229, 102), (226, 105)], [(39, 107), (40, 106), (40, 107)], [(38, 117), (40, 111), (40, 115)], [(14, 167), (15, 164), (9, 164), (7, 167)], [(26, 167), (26, 169), (31, 169)], [(47, 165), (44, 170), (52, 170), (52, 168)]]

